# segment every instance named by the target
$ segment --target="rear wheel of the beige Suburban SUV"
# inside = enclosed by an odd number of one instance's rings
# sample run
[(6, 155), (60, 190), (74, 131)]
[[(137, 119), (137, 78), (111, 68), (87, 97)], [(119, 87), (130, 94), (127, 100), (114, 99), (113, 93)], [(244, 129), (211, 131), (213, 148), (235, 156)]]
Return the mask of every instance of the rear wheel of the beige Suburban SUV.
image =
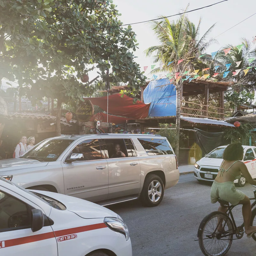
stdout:
[(161, 203), (164, 196), (164, 183), (162, 179), (155, 175), (149, 174), (143, 185), (140, 199), (146, 206), (153, 207)]

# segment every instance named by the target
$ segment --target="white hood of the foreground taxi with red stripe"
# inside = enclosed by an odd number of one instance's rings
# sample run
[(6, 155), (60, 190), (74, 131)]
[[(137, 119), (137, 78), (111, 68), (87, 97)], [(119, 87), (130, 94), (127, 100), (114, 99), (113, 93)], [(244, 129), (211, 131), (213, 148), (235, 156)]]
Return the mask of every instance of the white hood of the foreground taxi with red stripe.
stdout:
[(98, 204), (94, 204), (92, 202), (86, 201), (81, 198), (76, 198), (73, 196), (66, 196), (63, 194), (48, 192), (48, 191), (39, 191), (39, 190), (31, 190), (38, 194), (49, 196), (53, 199), (58, 200), (62, 204), (64, 204), (68, 211), (76, 213), (83, 219), (97, 219), (97, 218), (105, 218), (105, 217), (115, 217), (118, 218), (118, 215)]

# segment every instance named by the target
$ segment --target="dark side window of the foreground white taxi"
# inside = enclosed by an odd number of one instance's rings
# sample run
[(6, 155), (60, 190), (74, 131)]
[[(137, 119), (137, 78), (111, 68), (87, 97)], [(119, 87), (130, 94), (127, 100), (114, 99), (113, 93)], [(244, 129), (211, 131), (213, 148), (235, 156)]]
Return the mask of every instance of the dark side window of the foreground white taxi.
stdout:
[(0, 232), (31, 228), (27, 204), (0, 191)]

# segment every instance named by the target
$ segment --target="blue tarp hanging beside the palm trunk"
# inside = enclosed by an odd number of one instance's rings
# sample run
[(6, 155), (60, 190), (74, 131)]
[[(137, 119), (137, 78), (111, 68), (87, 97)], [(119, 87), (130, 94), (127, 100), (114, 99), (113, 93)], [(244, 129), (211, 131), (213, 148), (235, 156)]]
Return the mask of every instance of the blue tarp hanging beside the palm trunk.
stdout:
[(167, 78), (150, 81), (143, 100), (151, 102), (148, 116), (176, 116), (176, 90)]

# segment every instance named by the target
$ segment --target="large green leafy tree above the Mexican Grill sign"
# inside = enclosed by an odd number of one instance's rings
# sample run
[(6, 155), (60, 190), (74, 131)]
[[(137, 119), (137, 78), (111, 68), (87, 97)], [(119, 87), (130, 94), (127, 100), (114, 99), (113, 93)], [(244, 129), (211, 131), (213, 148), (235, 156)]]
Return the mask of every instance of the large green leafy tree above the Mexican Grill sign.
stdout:
[(104, 81), (128, 83), (132, 91), (145, 83), (133, 60), (135, 33), (121, 26), (112, 2), (0, 0), (0, 80), (16, 79), (19, 95), (34, 103), (44, 96), (57, 99), (57, 134), (61, 103), (94, 92), (83, 80), (93, 69)]

